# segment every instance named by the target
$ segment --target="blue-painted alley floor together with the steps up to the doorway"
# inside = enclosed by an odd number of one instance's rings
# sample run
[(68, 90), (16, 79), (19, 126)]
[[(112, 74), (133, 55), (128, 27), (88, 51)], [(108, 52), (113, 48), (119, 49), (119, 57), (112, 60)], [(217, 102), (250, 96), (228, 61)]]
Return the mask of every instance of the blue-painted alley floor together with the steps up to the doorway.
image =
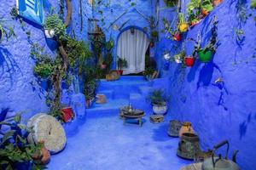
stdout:
[[(178, 139), (167, 135), (169, 115), (159, 124), (149, 121), (152, 108), (145, 96), (164, 82), (147, 82), (143, 77), (100, 82), (98, 93), (106, 94), (108, 103), (92, 105), (80, 127), (72, 128), (79, 122), (71, 122), (67, 146), (51, 156), (49, 170), (178, 170), (189, 164), (176, 156)], [(119, 107), (129, 101), (146, 112), (143, 127), (137, 122), (124, 125), (119, 119)]]

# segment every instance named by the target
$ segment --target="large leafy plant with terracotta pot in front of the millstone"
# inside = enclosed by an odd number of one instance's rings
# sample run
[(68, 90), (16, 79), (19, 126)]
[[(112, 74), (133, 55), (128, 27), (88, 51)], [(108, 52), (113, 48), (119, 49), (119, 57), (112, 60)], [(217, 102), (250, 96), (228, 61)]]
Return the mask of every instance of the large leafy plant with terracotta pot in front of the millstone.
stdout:
[[(27, 134), (32, 130), (20, 123), (21, 114), (5, 119), (1, 125), (9, 126), (0, 140), (0, 169), (43, 169), (49, 161), (44, 144), (30, 144)], [(44, 158), (44, 159), (43, 159)]]

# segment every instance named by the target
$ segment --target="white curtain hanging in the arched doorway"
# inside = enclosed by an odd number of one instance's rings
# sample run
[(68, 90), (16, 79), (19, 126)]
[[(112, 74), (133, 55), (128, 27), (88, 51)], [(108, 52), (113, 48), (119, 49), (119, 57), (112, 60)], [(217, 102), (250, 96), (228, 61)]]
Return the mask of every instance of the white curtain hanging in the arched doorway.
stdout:
[(145, 70), (145, 54), (148, 44), (148, 37), (143, 31), (134, 29), (134, 33), (128, 30), (121, 34), (118, 41), (117, 56), (128, 62), (128, 67), (123, 69), (124, 75)]

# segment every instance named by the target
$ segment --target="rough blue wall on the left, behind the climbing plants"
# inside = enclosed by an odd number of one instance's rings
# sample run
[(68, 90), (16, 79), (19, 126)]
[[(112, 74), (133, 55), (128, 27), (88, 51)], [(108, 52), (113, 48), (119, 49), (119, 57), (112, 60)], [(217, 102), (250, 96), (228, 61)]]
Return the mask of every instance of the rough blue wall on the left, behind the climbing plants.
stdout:
[[(87, 1), (83, 0), (83, 17), (90, 17), (91, 7)], [(9, 42), (0, 43), (0, 111), (3, 108), (9, 108), (8, 116), (16, 112), (25, 111), (26, 118), (38, 112), (49, 111), (45, 105), (45, 91), (41, 85), (38, 85), (37, 78), (33, 75), (34, 60), (30, 57), (30, 48), (32, 42), (38, 42), (48, 54), (53, 57), (55, 48), (51, 46), (50, 41), (46, 41), (44, 31), (41, 27), (27, 22), (25, 29), (22, 30), (19, 20), (12, 20), (9, 14), (12, 7), (15, 6), (15, 0), (3, 1), (0, 3), (0, 18), (9, 20), (3, 25), (12, 26), (17, 37), (12, 37)], [(45, 10), (50, 7), (59, 11), (58, 1), (44, 1)], [(84, 22), (83, 31), (80, 31), (79, 1), (72, 1), (73, 15), (67, 33), (73, 35), (75, 32), (79, 40), (87, 39), (87, 26)], [(66, 8), (65, 8), (66, 13)], [(26, 31), (31, 31), (31, 38), (28, 39)], [(44, 86), (43, 86), (44, 87)]]

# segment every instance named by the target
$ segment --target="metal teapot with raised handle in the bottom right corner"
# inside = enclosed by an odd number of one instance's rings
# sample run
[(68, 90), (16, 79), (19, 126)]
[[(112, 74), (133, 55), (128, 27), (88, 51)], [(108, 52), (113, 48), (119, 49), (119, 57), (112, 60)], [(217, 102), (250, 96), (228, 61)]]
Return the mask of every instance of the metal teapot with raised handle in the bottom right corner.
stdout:
[[(218, 148), (227, 144), (226, 156), (223, 158), (221, 155), (218, 157), (214, 156), (214, 152), (218, 150)], [(212, 157), (207, 158), (202, 164), (202, 170), (240, 170), (240, 167), (236, 164), (236, 154), (238, 150), (235, 150), (233, 153), (232, 161), (228, 160), (230, 144), (228, 140), (224, 140), (223, 142), (215, 145), (212, 150)]]

